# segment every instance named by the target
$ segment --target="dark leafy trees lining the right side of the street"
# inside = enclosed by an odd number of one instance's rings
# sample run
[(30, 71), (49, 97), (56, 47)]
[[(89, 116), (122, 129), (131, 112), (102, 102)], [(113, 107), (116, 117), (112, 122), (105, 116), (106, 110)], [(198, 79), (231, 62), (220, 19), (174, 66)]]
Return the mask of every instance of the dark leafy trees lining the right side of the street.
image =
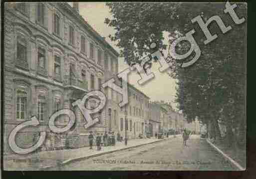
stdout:
[[(201, 56), (195, 64), (180, 68), (172, 60), (169, 75), (178, 79), (176, 102), (186, 115), (188, 122), (196, 117), (207, 125), (210, 138), (224, 140), (232, 146), (244, 146), (246, 136), (245, 94), (246, 94), (246, 21), (235, 24), (229, 14), (224, 13), (225, 3), (107, 3), (113, 19), (105, 23), (116, 29), (111, 40), (117, 42), (121, 56), (128, 64), (139, 63), (139, 58), (150, 53), (150, 44), (157, 42), (160, 50), (168, 44), (163, 43), (163, 32), (169, 32), (170, 42), (183, 36), (191, 29), (201, 49)], [(239, 17), (247, 18), (246, 3), (237, 3), (235, 8)], [(219, 15), (226, 26), (232, 29), (223, 34), (217, 23), (208, 28), (218, 38), (205, 45), (206, 39), (197, 23), (191, 19), (197, 15), (207, 21)], [(177, 53), (184, 54), (190, 44), (177, 45)], [(185, 61), (191, 60), (193, 55)], [(175, 65), (177, 64), (177, 65)], [(221, 136), (220, 124), (227, 127)]]

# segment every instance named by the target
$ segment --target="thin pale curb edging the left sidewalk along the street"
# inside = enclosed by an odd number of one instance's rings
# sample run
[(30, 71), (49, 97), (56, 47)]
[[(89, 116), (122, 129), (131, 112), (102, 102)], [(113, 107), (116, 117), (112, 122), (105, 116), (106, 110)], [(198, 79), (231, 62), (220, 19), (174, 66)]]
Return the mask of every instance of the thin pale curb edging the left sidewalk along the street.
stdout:
[[(178, 136), (176, 136), (176, 137), (178, 137)], [(114, 153), (114, 152), (123, 151), (123, 150), (127, 150), (127, 149), (132, 149), (132, 148), (136, 148), (136, 147), (140, 147), (140, 146), (144, 146), (144, 145), (148, 145), (148, 144), (163, 142), (163, 141), (171, 140), (171, 139), (173, 139), (173, 138), (162, 139), (162, 140), (159, 140), (159, 141), (153, 141), (153, 142), (146, 143), (146, 144), (140, 144), (140, 145), (137, 145), (137, 146), (131, 146), (131, 147), (126, 147), (126, 148), (122, 148), (122, 149), (116, 149), (116, 150), (107, 151), (107, 152), (103, 152), (103, 153), (99, 153), (99, 154), (94, 154), (94, 155), (90, 155), (90, 156), (85, 156), (85, 157), (78, 157), (78, 158), (68, 159), (68, 160), (66, 160), (66, 161), (61, 162), (61, 163), (59, 164), (59, 166), (64, 166), (64, 165), (67, 165), (67, 164), (71, 164), (71, 163), (74, 163), (74, 162), (86, 160), (86, 159), (89, 159), (89, 158), (98, 157), (98, 156), (105, 155), (105, 154), (111, 154), (111, 153)], [(50, 168), (53, 168), (53, 167), (56, 167), (56, 166), (44, 166), (44, 167), (42, 167), (42, 168), (39, 169), (39, 170), (50, 169)]]

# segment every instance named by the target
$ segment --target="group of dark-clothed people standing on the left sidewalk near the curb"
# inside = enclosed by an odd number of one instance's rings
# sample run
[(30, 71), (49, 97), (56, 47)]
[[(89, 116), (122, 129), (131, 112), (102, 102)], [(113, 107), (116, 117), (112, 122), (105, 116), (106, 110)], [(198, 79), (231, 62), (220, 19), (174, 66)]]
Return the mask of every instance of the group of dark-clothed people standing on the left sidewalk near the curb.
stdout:
[[(88, 136), (90, 149), (92, 149), (93, 146), (93, 140), (94, 136), (92, 134), (92, 131), (90, 131), (90, 134)], [(122, 139), (120, 137), (120, 134), (117, 134), (117, 141), (121, 142)], [(102, 146), (115, 146), (116, 140), (115, 140), (115, 133), (114, 132), (105, 132), (104, 135), (101, 133), (97, 133), (97, 136), (95, 138), (95, 143), (97, 146), (97, 150), (100, 151)]]

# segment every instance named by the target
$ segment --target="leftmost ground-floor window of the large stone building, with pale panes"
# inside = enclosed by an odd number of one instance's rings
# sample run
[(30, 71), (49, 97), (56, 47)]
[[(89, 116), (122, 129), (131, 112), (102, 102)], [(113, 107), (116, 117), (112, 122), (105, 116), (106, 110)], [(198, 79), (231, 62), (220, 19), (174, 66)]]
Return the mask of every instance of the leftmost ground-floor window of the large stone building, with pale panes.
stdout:
[(16, 96), (16, 119), (24, 120), (26, 118), (27, 94), (23, 91), (17, 91)]

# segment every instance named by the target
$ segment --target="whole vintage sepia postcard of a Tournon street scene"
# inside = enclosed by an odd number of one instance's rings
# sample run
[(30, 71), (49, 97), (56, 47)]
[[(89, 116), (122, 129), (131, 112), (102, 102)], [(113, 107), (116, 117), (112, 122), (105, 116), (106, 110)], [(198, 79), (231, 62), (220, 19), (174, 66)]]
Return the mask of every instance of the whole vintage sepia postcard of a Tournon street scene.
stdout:
[(6, 2), (4, 171), (245, 171), (247, 3)]

